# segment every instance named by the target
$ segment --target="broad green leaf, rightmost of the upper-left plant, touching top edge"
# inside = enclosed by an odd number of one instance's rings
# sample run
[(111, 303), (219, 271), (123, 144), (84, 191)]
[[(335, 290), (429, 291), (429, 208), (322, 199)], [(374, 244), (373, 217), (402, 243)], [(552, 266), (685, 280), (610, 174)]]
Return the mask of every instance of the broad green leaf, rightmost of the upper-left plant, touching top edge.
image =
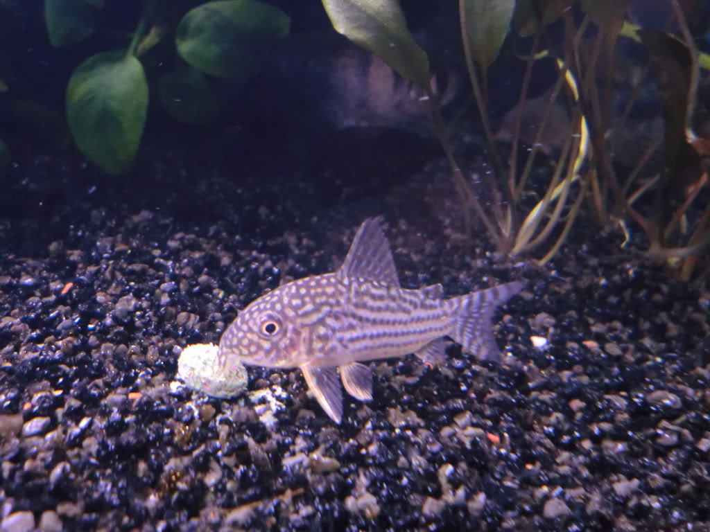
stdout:
[(273, 6), (256, 0), (220, 0), (185, 14), (175, 44), (182, 59), (202, 72), (246, 79), (289, 28), (290, 18)]

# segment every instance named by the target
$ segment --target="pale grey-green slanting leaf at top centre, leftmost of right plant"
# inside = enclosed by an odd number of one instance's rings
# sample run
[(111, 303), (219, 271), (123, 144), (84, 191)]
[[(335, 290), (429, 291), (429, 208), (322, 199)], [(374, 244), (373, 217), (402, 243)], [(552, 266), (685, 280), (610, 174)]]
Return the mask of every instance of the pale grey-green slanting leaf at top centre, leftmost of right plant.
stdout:
[(429, 87), (429, 59), (397, 0), (322, 0), (335, 31), (380, 56), (402, 77)]

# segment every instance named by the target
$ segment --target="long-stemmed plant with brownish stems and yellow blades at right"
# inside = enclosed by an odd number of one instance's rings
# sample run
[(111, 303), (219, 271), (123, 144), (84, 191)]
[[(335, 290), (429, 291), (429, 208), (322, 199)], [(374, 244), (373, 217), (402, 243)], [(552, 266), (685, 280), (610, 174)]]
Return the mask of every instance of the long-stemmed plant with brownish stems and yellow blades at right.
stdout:
[[(619, 226), (628, 235), (626, 223), (638, 223), (648, 238), (648, 255), (666, 261), (687, 279), (699, 253), (710, 243), (710, 207), (692, 209), (698, 206), (697, 199), (708, 179), (708, 141), (694, 133), (692, 119), (699, 70), (707, 67), (709, 60), (694, 45), (696, 36), (689, 31), (679, 2), (669, 2), (674, 31), (634, 26), (626, 19), (628, 1), (459, 0), (461, 43), (493, 170), (490, 179), (472, 184), (461, 172), (449, 145), (447, 125), (429, 85), (427, 55), (410, 35), (398, 2), (323, 0), (337, 31), (380, 55), (427, 94), (432, 127), (449, 159), (468, 235), (478, 221), (499, 252), (532, 253), (547, 262), (586, 200), (601, 226)], [(557, 35), (549, 31), (553, 24), (557, 25)], [(650, 55), (650, 72), (659, 85), (665, 123), (665, 165), (655, 177), (640, 184), (636, 182), (640, 169), (659, 148), (662, 138), (648, 141), (647, 149), (622, 179), (614, 165), (609, 134), (613, 126), (623, 127), (638, 96), (635, 90), (621, 116), (613, 116), (613, 65), (618, 40), (627, 38), (645, 46)], [(582, 53), (585, 39), (591, 39), (591, 50)], [(487, 73), (506, 42), (525, 45), (527, 52), (518, 52), (526, 61), (525, 76), (512, 147), (504, 161), (488, 112)], [(536, 140), (520, 170), (520, 124), (532, 70), (543, 61), (554, 62), (558, 78), (541, 115)], [(647, 79), (638, 80), (636, 87), (643, 87)], [(523, 198), (530, 194), (532, 163), (542, 147), (550, 111), (561, 95), (571, 117), (566, 140), (558, 147), (559, 155), (542, 197), (532, 209), (525, 208)], [(640, 196), (650, 191), (655, 199), (643, 210), (635, 206)], [(483, 204), (479, 197), (484, 195), (492, 195), (496, 201)], [(538, 255), (537, 250), (545, 244), (547, 251)]]

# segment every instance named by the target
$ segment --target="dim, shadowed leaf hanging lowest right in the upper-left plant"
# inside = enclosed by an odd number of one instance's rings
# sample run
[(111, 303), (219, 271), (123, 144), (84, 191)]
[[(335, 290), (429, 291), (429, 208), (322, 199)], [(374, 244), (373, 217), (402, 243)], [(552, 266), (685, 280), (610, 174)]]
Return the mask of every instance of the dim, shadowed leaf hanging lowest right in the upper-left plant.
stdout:
[(170, 116), (192, 126), (209, 123), (222, 108), (204, 74), (190, 66), (163, 74), (158, 90)]

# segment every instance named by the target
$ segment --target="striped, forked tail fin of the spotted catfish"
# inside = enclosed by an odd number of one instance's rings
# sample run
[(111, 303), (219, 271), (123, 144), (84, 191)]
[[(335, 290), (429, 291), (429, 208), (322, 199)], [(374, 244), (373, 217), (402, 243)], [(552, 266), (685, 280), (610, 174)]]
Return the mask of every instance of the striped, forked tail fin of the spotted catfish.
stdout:
[(509, 282), (449, 299), (456, 316), (449, 336), (461, 344), (464, 352), (472, 353), (479, 360), (501, 360), (493, 337), (493, 312), (498, 305), (518, 294), (523, 286), (521, 282)]

